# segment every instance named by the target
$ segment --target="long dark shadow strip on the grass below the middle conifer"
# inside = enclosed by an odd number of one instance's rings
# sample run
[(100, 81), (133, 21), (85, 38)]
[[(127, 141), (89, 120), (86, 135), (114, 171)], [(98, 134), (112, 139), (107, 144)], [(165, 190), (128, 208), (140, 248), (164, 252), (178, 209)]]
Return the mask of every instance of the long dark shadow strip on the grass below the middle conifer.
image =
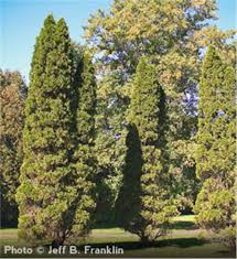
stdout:
[(206, 244), (205, 240), (198, 238), (174, 238), (174, 239), (164, 239), (150, 242), (148, 245), (141, 244), (139, 241), (122, 241), (122, 242), (88, 242), (78, 246), (79, 249), (84, 248), (85, 245), (91, 246), (93, 248), (103, 248), (106, 246), (117, 246), (119, 248), (123, 248), (125, 250), (133, 250), (133, 249), (143, 249), (143, 248), (162, 248), (162, 247), (180, 247), (180, 248), (187, 248), (193, 246), (203, 246)]

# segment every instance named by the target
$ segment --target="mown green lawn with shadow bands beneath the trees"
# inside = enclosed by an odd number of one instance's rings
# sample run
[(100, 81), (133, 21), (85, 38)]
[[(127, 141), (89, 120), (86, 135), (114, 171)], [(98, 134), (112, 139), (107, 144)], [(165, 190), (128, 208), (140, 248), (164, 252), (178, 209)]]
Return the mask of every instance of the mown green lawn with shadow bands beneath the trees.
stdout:
[[(2, 250), (7, 245), (15, 247), (24, 246), (18, 239), (17, 229), (1, 229), (0, 238)], [(173, 218), (169, 235), (151, 244), (149, 247), (143, 247), (137, 236), (121, 228), (104, 228), (93, 229), (86, 240), (78, 242), (78, 249), (84, 251), (85, 245), (90, 245), (93, 248), (105, 248), (108, 245), (123, 249), (125, 253), (122, 256), (117, 255), (117, 257), (235, 258), (235, 255), (230, 253), (225, 246), (212, 242), (208, 239), (208, 234), (203, 229), (198, 229), (195, 225), (194, 216), (188, 215)], [(61, 257), (68, 256), (67, 253)], [(8, 256), (2, 252), (1, 257), (14, 257), (14, 255)], [(32, 255), (24, 257), (32, 257)], [(43, 257), (52, 257), (52, 255), (44, 253)], [(54, 257), (60, 257), (60, 255), (54, 255)], [(85, 255), (82, 252), (76, 255), (76, 257), (85, 257)], [(90, 257), (95, 257), (95, 255), (90, 255)], [(105, 257), (105, 255), (100, 257)], [(116, 255), (108, 255), (108, 257), (116, 257)]]

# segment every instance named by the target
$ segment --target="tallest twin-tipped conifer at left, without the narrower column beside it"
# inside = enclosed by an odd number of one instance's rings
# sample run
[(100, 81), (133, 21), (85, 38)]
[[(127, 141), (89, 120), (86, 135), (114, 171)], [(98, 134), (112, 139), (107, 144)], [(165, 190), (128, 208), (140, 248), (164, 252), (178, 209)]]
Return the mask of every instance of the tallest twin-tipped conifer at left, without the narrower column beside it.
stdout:
[(65, 21), (50, 14), (36, 39), (25, 104), (24, 161), (18, 190), (20, 236), (63, 244), (72, 186), (72, 50)]

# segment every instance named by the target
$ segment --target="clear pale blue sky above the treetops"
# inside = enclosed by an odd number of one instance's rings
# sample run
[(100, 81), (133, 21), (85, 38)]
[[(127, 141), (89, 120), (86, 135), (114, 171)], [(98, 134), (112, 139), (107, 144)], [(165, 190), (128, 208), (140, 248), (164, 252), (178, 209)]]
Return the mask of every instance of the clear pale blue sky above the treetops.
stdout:
[[(164, 0), (165, 1), (165, 0)], [(83, 26), (98, 9), (109, 10), (112, 0), (0, 0), (0, 68), (18, 69), (28, 80), (35, 37), (43, 20), (53, 12), (63, 17), (71, 37), (83, 41)], [(236, 29), (237, 0), (217, 0), (222, 30)]]

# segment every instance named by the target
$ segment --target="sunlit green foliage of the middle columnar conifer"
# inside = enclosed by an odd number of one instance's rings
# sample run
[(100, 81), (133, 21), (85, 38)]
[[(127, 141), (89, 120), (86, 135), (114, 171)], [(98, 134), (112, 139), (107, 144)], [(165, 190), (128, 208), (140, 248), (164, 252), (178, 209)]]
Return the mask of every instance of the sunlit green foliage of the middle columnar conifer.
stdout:
[(165, 170), (164, 117), (164, 94), (158, 83), (155, 67), (142, 57), (136, 72), (129, 121), (138, 129), (142, 151), (141, 206), (136, 212), (134, 218), (139, 222), (133, 233), (144, 242), (164, 235), (170, 217), (175, 214)]

